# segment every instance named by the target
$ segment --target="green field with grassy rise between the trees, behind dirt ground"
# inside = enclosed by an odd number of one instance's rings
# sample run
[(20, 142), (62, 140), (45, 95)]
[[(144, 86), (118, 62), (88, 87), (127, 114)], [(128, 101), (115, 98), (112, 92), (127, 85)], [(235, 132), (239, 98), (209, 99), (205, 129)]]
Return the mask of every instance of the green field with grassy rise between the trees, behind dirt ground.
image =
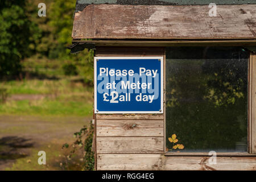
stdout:
[[(0, 82), (7, 99), (0, 103), (0, 114), (77, 115), (93, 113), (93, 88), (80, 76), (65, 76), (67, 61), (26, 59), (22, 80)], [(1, 100), (1, 98), (0, 98)]]

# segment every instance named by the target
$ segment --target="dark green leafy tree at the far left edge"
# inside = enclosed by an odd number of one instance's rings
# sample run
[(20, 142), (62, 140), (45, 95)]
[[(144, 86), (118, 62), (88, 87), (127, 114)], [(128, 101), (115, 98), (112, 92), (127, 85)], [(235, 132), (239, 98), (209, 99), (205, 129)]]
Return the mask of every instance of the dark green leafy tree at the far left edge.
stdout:
[(31, 22), (26, 0), (0, 2), (0, 78), (17, 76), (20, 60), (30, 55)]

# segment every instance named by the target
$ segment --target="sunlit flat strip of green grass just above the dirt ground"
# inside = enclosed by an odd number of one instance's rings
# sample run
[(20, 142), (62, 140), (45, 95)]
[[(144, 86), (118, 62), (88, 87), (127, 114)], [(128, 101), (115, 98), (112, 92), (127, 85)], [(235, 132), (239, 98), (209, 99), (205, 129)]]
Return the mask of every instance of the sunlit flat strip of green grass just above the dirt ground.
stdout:
[[(80, 82), (68, 79), (24, 80), (0, 84), (3, 85), (10, 98), (15, 94), (26, 94), (26, 97), (0, 104), (0, 114), (88, 116), (93, 113), (93, 88)], [(43, 98), (30, 100), (30, 94), (41, 94)]]

